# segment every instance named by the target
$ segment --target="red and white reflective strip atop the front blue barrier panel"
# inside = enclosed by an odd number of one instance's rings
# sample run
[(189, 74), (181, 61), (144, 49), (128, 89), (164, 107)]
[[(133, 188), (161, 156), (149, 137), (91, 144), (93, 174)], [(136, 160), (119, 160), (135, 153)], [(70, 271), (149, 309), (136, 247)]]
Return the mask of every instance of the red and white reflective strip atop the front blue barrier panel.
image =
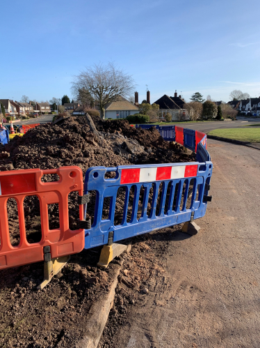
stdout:
[(197, 165), (174, 165), (167, 167), (122, 169), (122, 183), (143, 183), (170, 179), (183, 179), (197, 176)]

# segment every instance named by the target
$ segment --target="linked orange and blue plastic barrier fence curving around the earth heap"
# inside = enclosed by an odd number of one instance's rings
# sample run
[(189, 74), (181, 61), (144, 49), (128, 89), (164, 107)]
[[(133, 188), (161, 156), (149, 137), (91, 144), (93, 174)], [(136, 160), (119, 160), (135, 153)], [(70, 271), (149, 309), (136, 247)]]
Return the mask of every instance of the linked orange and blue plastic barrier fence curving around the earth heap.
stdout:
[[(0, 269), (42, 261), (47, 256), (70, 255), (83, 248), (202, 218), (207, 202), (211, 201), (213, 168), (206, 150), (206, 135), (177, 126), (159, 128), (159, 131), (164, 139), (178, 140), (196, 151), (197, 162), (91, 167), (86, 172), (84, 188), (79, 167), (0, 172)], [(44, 174), (58, 174), (60, 180), (43, 183)], [(111, 176), (113, 179), (108, 179)], [(69, 228), (67, 199), (73, 191), (79, 192), (81, 228), (76, 231)], [(32, 195), (40, 200), (42, 239), (38, 243), (26, 240), (24, 198)], [(92, 223), (86, 221), (90, 197), (95, 197)], [(17, 246), (10, 243), (6, 207), (10, 198), (15, 199), (18, 208), (20, 241)], [(49, 204), (58, 204), (58, 229), (49, 229)]]

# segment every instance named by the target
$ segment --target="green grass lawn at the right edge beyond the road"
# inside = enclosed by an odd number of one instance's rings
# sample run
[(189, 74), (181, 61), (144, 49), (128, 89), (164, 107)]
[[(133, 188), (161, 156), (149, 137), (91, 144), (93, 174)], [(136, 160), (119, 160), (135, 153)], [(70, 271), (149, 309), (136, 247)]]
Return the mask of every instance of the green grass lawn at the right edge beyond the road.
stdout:
[(240, 140), (241, 142), (260, 142), (260, 128), (227, 128), (211, 130), (208, 135)]

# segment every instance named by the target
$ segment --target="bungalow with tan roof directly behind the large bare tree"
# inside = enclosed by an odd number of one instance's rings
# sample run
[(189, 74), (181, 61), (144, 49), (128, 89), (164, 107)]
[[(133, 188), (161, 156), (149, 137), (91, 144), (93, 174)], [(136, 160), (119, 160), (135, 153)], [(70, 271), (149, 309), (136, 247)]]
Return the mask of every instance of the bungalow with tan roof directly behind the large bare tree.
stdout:
[(122, 96), (105, 107), (106, 119), (125, 119), (129, 115), (138, 114), (139, 109)]

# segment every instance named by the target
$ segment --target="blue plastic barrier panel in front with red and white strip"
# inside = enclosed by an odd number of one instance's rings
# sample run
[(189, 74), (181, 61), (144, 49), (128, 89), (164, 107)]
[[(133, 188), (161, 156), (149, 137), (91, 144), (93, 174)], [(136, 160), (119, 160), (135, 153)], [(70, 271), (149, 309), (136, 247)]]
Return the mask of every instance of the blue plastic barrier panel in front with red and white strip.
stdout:
[[(108, 172), (115, 172), (115, 178), (105, 179)], [(194, 218), (201, 218), (206, 212), (205, 183), (209, 184), (211, 174), (211, 162), (88, 169), (84, 194), (95, 191), (96, 202), (84, 248), (107, 244), (109, 232), (116, 242), (190, 221), (193, 212)]]

